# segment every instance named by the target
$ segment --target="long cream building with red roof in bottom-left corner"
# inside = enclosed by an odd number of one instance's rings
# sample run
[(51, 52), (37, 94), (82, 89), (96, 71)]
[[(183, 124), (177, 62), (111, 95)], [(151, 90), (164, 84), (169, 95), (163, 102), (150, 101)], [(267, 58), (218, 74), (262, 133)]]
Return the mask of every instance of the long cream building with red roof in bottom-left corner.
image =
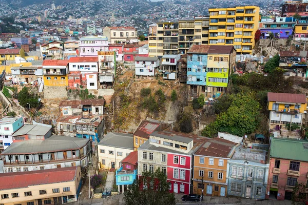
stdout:
[(80, 167), (0, 174), (0, 203), (62, 204), (76, 201), (81, 186)]

